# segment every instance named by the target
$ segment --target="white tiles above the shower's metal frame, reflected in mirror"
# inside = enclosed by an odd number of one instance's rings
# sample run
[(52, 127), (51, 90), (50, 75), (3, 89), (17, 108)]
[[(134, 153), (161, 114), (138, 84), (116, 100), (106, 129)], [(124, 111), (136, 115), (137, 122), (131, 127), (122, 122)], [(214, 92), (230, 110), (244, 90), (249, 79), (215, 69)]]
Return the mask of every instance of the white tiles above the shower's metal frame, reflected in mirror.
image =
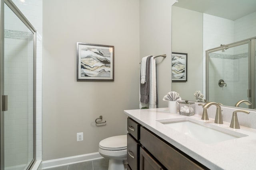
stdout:
[(203, 14), (203, 20), (203, 52), (256, 36), (256, 12), (234, 21)]

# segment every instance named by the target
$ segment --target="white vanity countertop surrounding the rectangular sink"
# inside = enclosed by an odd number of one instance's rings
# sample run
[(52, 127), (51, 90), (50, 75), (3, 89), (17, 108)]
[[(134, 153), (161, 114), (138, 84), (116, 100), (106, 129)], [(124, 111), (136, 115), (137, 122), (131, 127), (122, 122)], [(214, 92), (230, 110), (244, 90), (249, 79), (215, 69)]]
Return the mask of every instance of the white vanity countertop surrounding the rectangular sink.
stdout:
[(156, 121), (157, 119), (187, 117), (169, 113), (168, 108), (125, 110), (124, 113), (212, 170), (256, 169), (256, 129), (241, 125), (240, 129), (232, 129), (228, 122), (216, 124), (214, 119), (211, 118), (205, 122), (201, 120), (201, 115), (190, 116), (189, 118), (197, 121), (248, 135), (218, 143), (205, 144)]

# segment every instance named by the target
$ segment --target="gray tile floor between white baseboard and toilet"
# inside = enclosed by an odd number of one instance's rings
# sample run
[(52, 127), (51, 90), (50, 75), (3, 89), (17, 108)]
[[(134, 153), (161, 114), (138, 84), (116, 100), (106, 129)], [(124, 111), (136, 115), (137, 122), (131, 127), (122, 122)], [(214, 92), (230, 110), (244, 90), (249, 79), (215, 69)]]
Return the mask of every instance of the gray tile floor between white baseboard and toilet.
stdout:
[(98, 159), (88, 162), (80, 162), (45, 170), (108, 170), (108, 159)]

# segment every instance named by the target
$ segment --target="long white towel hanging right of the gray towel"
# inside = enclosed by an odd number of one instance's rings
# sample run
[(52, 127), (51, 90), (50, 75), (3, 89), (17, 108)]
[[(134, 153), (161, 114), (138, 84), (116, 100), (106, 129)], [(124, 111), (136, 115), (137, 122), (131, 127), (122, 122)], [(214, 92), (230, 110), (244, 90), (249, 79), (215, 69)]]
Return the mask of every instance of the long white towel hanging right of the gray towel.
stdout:
[(156, 60), (150, 59), (150, 85), (149, 85), (149, 108), (156, 108)]

